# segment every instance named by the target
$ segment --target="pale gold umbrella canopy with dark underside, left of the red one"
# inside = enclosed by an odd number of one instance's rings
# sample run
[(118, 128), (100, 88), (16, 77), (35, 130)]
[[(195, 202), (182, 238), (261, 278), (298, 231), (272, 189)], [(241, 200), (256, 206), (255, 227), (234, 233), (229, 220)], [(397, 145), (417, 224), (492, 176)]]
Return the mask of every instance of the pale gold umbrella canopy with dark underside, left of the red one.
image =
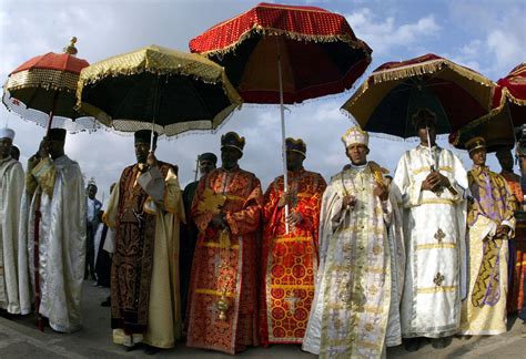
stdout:
[(214, 130), (241, 105), (216, 63), (192, 53), (150, 45), (82, 70), (80, 111), (117, 131), (154, 130), (168, 136)]

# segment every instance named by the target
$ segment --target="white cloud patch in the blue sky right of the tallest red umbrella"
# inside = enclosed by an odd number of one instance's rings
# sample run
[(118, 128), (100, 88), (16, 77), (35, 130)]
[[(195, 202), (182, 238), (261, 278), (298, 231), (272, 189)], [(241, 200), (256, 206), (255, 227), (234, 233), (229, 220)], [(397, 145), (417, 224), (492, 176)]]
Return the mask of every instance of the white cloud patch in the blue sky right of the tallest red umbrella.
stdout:
[(402, 24), (397, 24), (394, 17), (378, 18), (368, 8), (346, 16), (356, 37), (370, 44), (373, 54), (384, 55), (393, 48), (409, 49), (415, 44), (429, 41), (441, 32), (441, 27), (433, 14), (421, 18), (416, 22)]

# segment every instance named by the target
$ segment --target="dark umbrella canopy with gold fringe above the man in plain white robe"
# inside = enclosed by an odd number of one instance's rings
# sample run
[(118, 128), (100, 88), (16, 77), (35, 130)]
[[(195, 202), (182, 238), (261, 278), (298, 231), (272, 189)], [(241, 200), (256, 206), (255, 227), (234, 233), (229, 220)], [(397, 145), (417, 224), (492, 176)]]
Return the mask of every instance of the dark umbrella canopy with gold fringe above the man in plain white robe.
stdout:
[(362, 129), (402, 139), (416, 136), (412, 115), (428, 107), (437, 134), (455, 132), (488, 113), (495, 84), (482, 74), (435, 54), (387, 62), (342, 106)]

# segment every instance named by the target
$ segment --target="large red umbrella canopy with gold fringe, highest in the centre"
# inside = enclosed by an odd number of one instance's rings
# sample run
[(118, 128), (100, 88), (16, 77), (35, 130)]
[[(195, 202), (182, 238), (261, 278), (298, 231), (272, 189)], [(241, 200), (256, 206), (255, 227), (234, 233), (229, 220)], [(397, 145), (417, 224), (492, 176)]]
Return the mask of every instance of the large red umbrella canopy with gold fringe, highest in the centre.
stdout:
[[(245, 102), (300, 103), (350, 89), (372, 50), (344, 17), (314, 7), (260, 3), (190, 41), (225, 68)], [(277, 59), (281, 59), (279, 76)]]

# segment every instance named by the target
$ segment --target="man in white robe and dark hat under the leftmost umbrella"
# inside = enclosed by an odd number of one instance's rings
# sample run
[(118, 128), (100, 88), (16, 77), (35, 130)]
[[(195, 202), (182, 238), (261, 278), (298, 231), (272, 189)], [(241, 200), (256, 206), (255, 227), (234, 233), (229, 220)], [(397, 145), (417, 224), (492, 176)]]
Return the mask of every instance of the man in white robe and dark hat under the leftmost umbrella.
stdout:
[[(33, 288), (39, 284), (39, 314), (53, 330), (73, 332), (82, 327), (87, 209), (84, 180), (79, 164), (64, 154), (64, 143), (65, 131), (51, 129), (38, 155), (29, 160), (26, 196), (31, 205), (22, 211), (28, 220), (21, 222), (27, 226), (21, 229), (21, 240), (28, 245)], [(33, 230), (37, 214), (41, 215), (38, 234)]]

